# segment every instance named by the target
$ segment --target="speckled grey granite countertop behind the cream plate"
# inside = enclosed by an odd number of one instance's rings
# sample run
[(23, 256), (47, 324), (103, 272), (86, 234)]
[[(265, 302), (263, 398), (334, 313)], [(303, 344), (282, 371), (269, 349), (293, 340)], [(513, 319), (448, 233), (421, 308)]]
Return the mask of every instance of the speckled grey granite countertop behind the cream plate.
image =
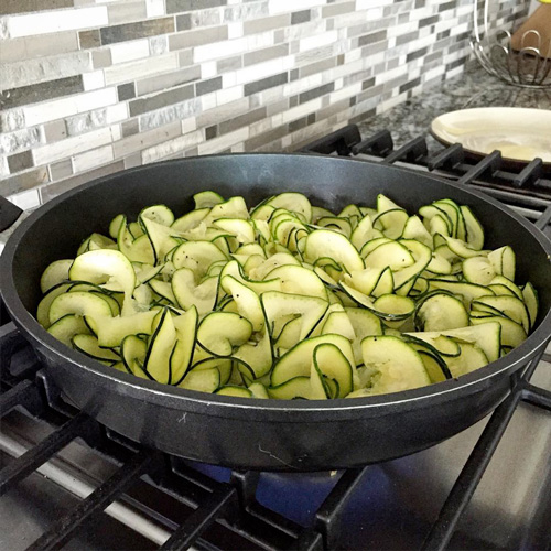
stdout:
[(476, 61), (465, 72), (419, 96), (358, 122), (363, 138), (389, 129), (395, 147), (418, 136), (428, 136), (430, 151), (442, 147), (429, 134), (431, 121), (445, 112), (474, 107), (529, 107), (551, 109), (551, 88), (530, 89), (508, 85), (489, 75)]

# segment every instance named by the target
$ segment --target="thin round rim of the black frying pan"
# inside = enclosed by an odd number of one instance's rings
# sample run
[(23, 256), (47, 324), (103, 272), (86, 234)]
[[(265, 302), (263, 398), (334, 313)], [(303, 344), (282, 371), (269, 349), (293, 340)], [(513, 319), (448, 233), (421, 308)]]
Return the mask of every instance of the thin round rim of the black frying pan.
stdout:
[[(54, 197), (34, 213), (32, 213), (20, 226), (14, 230), (13, 235), (9, 238), (6, 248), (0, 257), (0, 293), (4, 300), (6, 306), (12, 315), (15, 324), (24, 333), (26, 337), (40, 346), (47, 348), (51, 354), (56, 355), (58, 358), (73, 364), (73, 367), (83, 369), (87, 377), (95, 377), (101, 385), (110, 385), (110, 390), (114, 392), (123, 392), (127, 396), (132, 396), (139, 399), (147, 399), (151, 402), (162, 401), (165, 407), (173, 409), (187, 409), (186, 404), (193, 403), (194, 407), (203, 409), (205, 413), (215, 417), (238, 417), (247, 420), (255, 421), (258, 414), (259, 419), (266, 421), (270, 417), (271, 421), (278, 422), (292, 422), (292, 415), (296, 414), (300, 419), (296, 422), (303, 422), (304, 415), (315, 415), (316, 421), (320, 415), (331, 415), (332, 420), (335, 417), (338, 419), (346, 419), (350, 415), (356, 417), (357, 411), (375, 412), (376, 414), (390, 413), (395, 408), (406, 407), (414, 409), (423, 407), (425, 400), (432, 400), (431, 403), (440, 403), (441, 401), (461, 399), (465, 393), (472, 392), (472, 387), (479, 387), (480, 391), (486, 385), (490, 383), (494, 377), (506, 374), (507, 371), (514, 372), (522, 365), (526, 365), (545, 346), (547, 339), (551, 336), (551, 309), (540, 322), (539, 327), (519, 347), (511, 350), (507, 356), (499, 358), (487, 366), (477, 369), (471, 374), (462, 376), (461, 379), (451, 379), (436, 385), (421, 387), (418, 389), (407, 390), (402, 392), (393, 392), (388, 395), (372, 396), (367, 398), (338, 399), (331, 401), (320, 400), (261, 400), (255, 398), (237, 398), (225, 397), (217, 395), (208, 395), (204, 392), (190, 391), (169, 385), (161, 385), (155, 381), (145, 381), (138, 379), (130, 374), (123, 374), (108, 366), (104, 366), (99, 361), (67, 348), (57, 339), (52, 337), (34, 318), (34, 316), (25, 309), (15, 289), (14, 278), (12, 272), (12, 260), (18, 250), (19, 237), (22, 237), (25, 231), (42, 216), (44, 216), (52, 208), (55, 208), (60, 203), (71, 198), (73, 195), (82, 191), (98, 185), (102, 182), (117, 177), (122, 172), (126, 174), (141, 172), (143, 170), (151, 170), (160, 164), (181, 164), (182, 162), (208, 162), (212, 159), (220, 158), (247, 158), (247, 156), (306, 156), (318, 158), (329, 162), (346, 162), (346, 163), (364, 163), (368, 165), (380, 165), (380, 163), (364, 161), (349, 158), (335, 158), (323, 154), (313, 153), (229, 153), (229, 154), (213, 154), (202, 155), (196, 158), (176, 159), (169, 161), (161, 161), (148, 165), (136, 166), (125, 171), (120, 171), (107, 176), (95, 179), (90, 182), (82, 184), (77, 187), (68, 190), (67, 192)], [(402, 166), (389, 166), (398, 172), (406, 174), (420, 175), (419, 171)], [(435, 180), (452, 188), (460, 188), (463, 193), (467, 193), (478, 197), (486, 203), (490, 203), (494, 207), (499, 209), (515, 219), (517, 224), (523, 226), (528, 231), (533, 235), (540, 247), (548, 253), (550, 258), (551, 268), (551, 240), (534, 227), (533, 224), (506, 207), (504, 204), (487, 196), (478, 190), (467, 188), (460, 186), (454, 182), (450, 182), (443, 177), (432, 174), (422, 174), (423, 177)], [(118, 383), (118, 385), (117, 385)], [(476, 392), (476, 390), (474, 390)], [(251, 413), (255, 412), (255, 417)], [(234, 413), (234, 414), (230, 414)], [(284, 414), (283, 414), (284, 413)], [(288, 419), (288, 417), (291, 419)]]

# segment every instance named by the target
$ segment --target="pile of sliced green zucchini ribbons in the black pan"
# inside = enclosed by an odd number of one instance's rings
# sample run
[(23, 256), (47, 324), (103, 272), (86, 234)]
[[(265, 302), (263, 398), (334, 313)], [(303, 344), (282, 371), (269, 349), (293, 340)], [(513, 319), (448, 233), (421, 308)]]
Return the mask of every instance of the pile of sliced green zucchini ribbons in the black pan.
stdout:
[(331, 400), (457, 378), (519, 346), (538, 293), (466, 205), (300, 193), (125, 213), (41, 279), (39, 322), (137, 377), (236, 398)]

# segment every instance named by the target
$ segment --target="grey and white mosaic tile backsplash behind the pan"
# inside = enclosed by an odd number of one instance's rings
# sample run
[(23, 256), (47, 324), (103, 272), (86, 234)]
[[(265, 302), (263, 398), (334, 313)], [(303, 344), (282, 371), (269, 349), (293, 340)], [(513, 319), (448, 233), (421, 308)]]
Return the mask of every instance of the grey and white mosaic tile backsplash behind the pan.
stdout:
[(296, 149), (461, 73), (472, 1), (0, 0), (0, 194)]

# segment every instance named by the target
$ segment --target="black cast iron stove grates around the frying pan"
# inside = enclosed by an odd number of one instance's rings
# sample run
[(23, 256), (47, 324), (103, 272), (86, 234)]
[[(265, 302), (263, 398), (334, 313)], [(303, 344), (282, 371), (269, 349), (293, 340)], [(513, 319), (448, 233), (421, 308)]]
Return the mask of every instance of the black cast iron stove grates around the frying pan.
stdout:
[[(499, 155), (491, 154), (478, 164), (467, 164), (461, 150), (451, 147), (437, 154), (426, 156), (426, 144), (413, 140), (397, 151), (388, 132), (379, 132), (361, 141), (356, 127), (346, 127), (339, 132), (311, 145), (311, 151), (331, 154), (363, 154), (382, 156), (382, 162), (412, 162), (430, 169), (446, 171), (447, 176), (457, 177), (469, 185), (480, 177), (491, 194), (504, 199), (503, 194), (516, 198), (512, 205), (526, 209), (537, 220), (537, 226), (548, 228), (551, 206), (545, 194), (551, 193), (551, 182), (540, 177), (541, 164), (530, 165), (518, 175), (499, 171)], [(451, 169), (450, 169), (451, 168)], [(508, 183), (504, 184), (503, 175)], [(489, 175), (489, 177), (488, 177)], [(497, 175), (497, 183), (496, 183)], [(526, 193), (518, 194), (508, 186), (519, 185)], [(487, 190), (487, 191), (488, 191)], [(543, 190), (543, 192), (542, 192)], [(499, 195), (501, 194), (501, 196)], [(549, 195), (548, 195), (549, 197)], [(511, 204), (507, 201), (508, 204)], [(156, 527), (156, 543), (161, 549), (300, 549), (326, 550), (338, 547), (346, 505), (371, 467), (348, 469), (335, 476), (336, 483), (321, 506), (312, 514), (312, 522), (304, 528), (261, 505), (258, 496), (259, 475), (255, 472), (231, 472), (225, 479), (209, 476), (197, 465), (161, 454), (128, 442), (122, 436), (101, 426), (94, 419), (77, 411), (63, 400), (44, 369), (36, 360), (31, 346), (9, 322), (2, 305), (3, 325), (0, 327), (0, 420), (11, 411), (23, 410), (33, 421), (45, 421), (53, 432), (30, 446), (20, 450), (18, 456), (0, 471), (0, 495), (4, 495), (41, 466), (56, 461), (67, 444), (78, 440), (102, 460), (112, 465), (110, 476), (89, 495), (78, 501), (69, 512), (61, 516), (53, 526), (28, 549), (60, 549), (85, 525), (97, 521), (107, 507), (119, 520), (126, 515), (147, 517), (147, 522)], [(479, 440), (474, 446), (447, 499), (442, 507), (423, 543), (423, 549), (445, 549), (454, 534), (501, 436), (520, 402), (551, 410), (551, 392), (530, 383), (530, 378), (541, 358), (534, 358), (511, 378), (511, 392), (494, 412)], [(24, 453), (23, 453), (24, 452)], [(542, 482), (544, 484), (544, 480)], [(155, 510), (148, 503), (154, 495), (162, 495), (166, 510)], [(166, 500), (170, 506), (166, 506)], [(150, 506), (151, 505), (151, 506)], [(544, 504), (543, 519), (545, 515)], [(538, 510), (540, 510), (538, 509)], [(540, 515), (541, 516), (541, 515)], [(544, 520), (543, 520), (544, 522)], [(537, 523), (537, 522), (536, 522)], [(541, 525), (541, 519), (539, 520)], [(549, 542), (547, 530), (528, 536), (528, 548), (539, 549)]]

